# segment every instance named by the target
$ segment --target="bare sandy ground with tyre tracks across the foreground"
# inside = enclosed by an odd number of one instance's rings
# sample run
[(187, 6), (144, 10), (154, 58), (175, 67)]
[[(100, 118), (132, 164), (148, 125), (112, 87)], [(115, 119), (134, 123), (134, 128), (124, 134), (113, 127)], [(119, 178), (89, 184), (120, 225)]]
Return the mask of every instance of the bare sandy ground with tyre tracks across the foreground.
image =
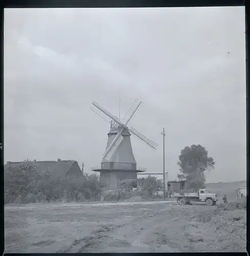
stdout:
[(246, 251), (246, 211), (216, 209), (173, 201), (6, 206), (5, 252)]

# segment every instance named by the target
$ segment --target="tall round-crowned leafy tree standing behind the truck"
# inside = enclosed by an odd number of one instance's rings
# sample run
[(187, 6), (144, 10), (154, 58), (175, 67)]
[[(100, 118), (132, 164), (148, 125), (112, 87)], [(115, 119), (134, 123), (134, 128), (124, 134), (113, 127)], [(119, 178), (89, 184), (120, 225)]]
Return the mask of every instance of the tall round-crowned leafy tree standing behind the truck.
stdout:
[(206, 182), (204, 172), (214, 168), (214, 159), (208, 156), (208, 151), (201, 145), (186, 146), (181, 150), (179, 161), (180, 179), (186, 178), (188, 188), (202, 188)]

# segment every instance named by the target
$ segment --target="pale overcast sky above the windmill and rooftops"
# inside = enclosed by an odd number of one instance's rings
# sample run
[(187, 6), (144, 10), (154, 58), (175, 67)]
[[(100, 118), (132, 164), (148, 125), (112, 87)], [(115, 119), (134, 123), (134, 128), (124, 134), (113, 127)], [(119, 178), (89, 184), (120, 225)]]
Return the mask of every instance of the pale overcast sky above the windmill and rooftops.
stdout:
[[(131, 136), (147, 172), (179, 173), (180, 151), (201, 144), (208, 182), (246, 179), (244, 7), (5, 9), (4, 155), (100, 166), (110, 124), (143, 101)], [(108, 119), (108, 118), (106, 118)], [(110, 119), (108, 119), (110, 120)], [(158, 178), (161, 178), (158, 177)]]

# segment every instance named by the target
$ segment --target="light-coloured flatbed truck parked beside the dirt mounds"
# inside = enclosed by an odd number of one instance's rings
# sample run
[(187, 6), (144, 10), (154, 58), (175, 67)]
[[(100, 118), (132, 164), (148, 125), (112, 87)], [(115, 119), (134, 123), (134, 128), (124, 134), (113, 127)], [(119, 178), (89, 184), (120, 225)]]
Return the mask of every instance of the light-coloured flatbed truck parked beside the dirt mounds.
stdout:
[(191, 201), (206, 202), (207, 205), (216, 205), (218, 201), (217, 194), (211, 194), (207, 189), (198, 189), (195, 193), (174, 193), (174, 198), (177, 199), (177, 203), (190, 204)]

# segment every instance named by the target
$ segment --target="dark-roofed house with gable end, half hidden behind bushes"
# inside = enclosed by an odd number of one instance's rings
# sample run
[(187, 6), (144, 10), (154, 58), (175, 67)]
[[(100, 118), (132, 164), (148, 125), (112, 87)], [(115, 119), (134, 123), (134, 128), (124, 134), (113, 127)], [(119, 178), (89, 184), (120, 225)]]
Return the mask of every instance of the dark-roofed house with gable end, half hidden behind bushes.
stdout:
[[(21, 162), (7, 162), (7, 167), (17, 167)], [(79, 177), (82, 176), (82, 170), (80, 169), (77, 161), (75, 160), (61, 160), (57, 161), (36, 161), (34, 163), (37, 166), (38, 173), (43, 173), (44, 170), (51, 172), (51, 180), (57, 180), (60, 177)]]

